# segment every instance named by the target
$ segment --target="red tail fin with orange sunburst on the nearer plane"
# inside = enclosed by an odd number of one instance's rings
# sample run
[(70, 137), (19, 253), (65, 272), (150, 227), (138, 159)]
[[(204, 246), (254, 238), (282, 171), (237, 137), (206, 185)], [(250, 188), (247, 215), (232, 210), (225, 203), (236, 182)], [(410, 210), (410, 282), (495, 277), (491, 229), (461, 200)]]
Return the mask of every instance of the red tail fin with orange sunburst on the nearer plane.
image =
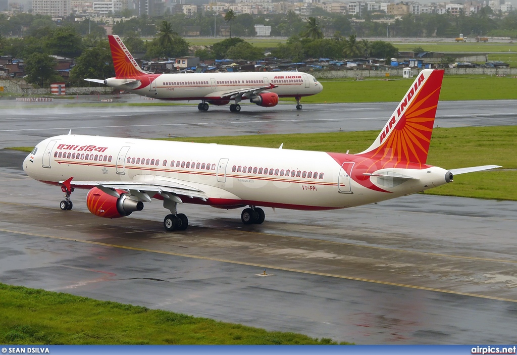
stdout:
[(443, 70), (422, 70), (370, 148), (357, 155), (424, 164), (443, 77)]

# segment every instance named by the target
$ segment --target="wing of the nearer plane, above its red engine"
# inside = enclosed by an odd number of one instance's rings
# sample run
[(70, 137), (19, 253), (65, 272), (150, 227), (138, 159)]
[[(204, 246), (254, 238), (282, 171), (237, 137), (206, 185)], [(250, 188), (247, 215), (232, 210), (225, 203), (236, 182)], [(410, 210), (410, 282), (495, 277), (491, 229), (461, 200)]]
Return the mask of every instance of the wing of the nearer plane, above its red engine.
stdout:
[[(60, 181), (60, 184), (65, 184), (66, 181)], [(204, 201), (208, 199), (205, 192), (197, 189), (194, 186), (189, 186), (181, 182), (181, 180), (162, 178), (162, 179), (138, 179), (133, 181), (74, 181), (71, 180), (70, 187), (96, 187), (103, 192), (120, 197), (117, 190), (123, 190), (139, 200), (146, 202), (151, 201), (151, 197), (158, 194), (165, 198), (172, 198), (178, 203), (183, 201), (178, 195), (188, 196), (191, 198), (199, 198)]]

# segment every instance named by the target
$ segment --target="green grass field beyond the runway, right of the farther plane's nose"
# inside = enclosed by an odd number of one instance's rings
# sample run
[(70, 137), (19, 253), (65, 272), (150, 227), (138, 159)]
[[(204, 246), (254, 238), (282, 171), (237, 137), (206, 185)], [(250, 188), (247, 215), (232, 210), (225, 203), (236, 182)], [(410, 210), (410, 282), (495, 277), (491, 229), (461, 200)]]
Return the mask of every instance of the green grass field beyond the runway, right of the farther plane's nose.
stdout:
[[(397, 78), (390, 81), (380, 79), (321, 80), (323, 91), (320, 94), (302, 98), (302, 103), (398, 102), (414, 81), (414, 78)], [(369, 94), (371, 92), (375, 95)], [(440, 101), (504, 99), (517, 99), (517, 79), (484, 75), (446, 75), (440, 92)], [(282, 99), (284, 100), (295, 101), (295, 99)]]

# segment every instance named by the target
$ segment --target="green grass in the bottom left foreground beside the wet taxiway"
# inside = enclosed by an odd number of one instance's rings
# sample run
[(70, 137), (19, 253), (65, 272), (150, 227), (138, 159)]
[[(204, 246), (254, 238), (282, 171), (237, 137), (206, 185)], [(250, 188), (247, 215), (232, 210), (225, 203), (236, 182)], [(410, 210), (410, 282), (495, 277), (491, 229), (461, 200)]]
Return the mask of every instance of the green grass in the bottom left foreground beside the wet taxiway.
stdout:
[(337, 344), (5, 284), (0, 284), (0, 310), (0, 344)]

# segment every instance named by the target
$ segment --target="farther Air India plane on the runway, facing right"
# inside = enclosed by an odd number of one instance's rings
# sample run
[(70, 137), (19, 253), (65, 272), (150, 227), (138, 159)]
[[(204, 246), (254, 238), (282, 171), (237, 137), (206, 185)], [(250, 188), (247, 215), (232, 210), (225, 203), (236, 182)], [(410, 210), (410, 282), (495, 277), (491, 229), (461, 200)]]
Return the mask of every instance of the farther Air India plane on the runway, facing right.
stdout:
[(278, 104), (279, 97), (296, 98), (296, 108), (301, 110), (303, 96), (323, 90), (314, 76), (297, 71), (149, 74), (140, 68), (118, 36), (108, 38), (116, 76), (86, 81), (161, 100), (201, 100), (197, 105), (201, 111), (208, 111), (208, 104), (230, 103), (230, 111), (239, 112), (242, 100), (272, 107)]

